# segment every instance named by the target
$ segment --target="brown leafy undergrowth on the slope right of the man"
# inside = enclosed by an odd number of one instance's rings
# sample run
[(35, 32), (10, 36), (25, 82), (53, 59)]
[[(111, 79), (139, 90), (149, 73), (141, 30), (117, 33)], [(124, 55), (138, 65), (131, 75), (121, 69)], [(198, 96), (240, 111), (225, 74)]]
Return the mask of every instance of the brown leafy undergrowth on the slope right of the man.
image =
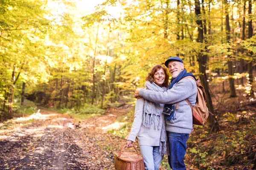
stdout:
[(251, 170), (256, 168), (256, 114), (239, 119), (239, 113), (226, 113), (218, 133), (195, 126), (187, 142), (186, 160), (192, 169)]

